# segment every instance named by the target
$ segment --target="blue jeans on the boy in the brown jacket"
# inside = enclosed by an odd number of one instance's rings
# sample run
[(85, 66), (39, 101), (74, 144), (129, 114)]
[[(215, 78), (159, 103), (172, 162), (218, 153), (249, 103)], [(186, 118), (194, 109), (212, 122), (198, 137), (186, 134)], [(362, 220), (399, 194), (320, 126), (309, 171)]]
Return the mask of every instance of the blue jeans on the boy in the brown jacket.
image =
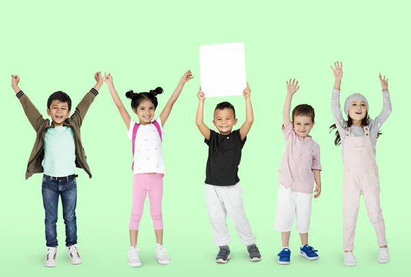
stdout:
[(49, 176), (42, 179), (42, 198), (45, 207), (46, 246), (58, 246), (57, 217), (58, 199), (62, 197), (63, 219), (66, 225), (66, 246), (77, 243), (77, 222), (75, 207), (77, 204), (77, 181), (75, 178), (54, 180)]

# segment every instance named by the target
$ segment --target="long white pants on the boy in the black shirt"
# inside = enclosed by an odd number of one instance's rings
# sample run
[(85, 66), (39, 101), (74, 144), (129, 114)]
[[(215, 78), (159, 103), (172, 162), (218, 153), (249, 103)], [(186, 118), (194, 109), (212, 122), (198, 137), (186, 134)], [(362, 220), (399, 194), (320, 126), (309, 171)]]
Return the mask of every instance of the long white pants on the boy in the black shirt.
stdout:
[(212, 226), (214, 244), (228, 246), (231, 243), (227, 226), (227, 214), (234, 222), (241, 243), (250, 246), (256, 242), (242, 206), (240, 183), (229, 186), (205, 185), (208, 216)]

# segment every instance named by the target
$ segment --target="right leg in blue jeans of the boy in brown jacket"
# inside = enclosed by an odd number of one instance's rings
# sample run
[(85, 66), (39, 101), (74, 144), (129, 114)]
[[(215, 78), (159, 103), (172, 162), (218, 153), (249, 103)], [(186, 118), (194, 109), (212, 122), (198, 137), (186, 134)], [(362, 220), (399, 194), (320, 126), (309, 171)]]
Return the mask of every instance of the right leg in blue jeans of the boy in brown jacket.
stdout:
[(66, 225), (66, 246), (73, 246), (77, 244), (77, 218), (75, 216), (77, 181), (75, 179), (62, 181), (61, 196), (63, 219)]

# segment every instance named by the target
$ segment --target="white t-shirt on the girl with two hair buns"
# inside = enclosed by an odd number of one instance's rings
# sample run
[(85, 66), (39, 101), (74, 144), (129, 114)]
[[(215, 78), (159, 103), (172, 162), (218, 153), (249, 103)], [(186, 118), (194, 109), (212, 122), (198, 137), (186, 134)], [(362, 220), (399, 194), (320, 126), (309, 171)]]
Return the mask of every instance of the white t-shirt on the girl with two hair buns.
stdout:
[[(155, 121), (160, 125), (160, 130), (162, 135), (164, 135), (160, 117)], [(133, 139), (134, 124), (136, 124), (136, 122), (132, 119), (127, 134), (130, 140)], [(160, 134), (153, 123), (147, 125), (140, 124), (140, 127), (137, 129), (133, 174), (140, 173), (166, 173), (162, 157)]]

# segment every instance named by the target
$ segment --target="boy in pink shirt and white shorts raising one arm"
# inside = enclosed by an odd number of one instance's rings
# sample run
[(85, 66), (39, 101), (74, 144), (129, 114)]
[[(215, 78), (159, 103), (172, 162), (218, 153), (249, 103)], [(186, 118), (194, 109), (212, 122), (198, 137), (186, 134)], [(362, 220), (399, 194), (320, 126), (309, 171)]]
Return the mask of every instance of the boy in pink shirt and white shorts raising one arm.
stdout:
[(281, 232), (283, 249), (279, 252), (279, 264), (290, 264), (290, 234), (294, 217), (297, 217), (295, 228), (300, 234), (300, 254), (308, 260), (319, 259), (308, 245), (308, 230), (310, 228), (312, 189), (316, 187), (314, 198), (321, 194), (322, 170), (320, 164), (320, 146), (310, 136), (314, 127), (314, 109), (310, 105), (290, 107), (292, 96), (299, 90), (295, 79), (287, 83), (287, 96), (283, 109), (282, 132), (286, 140), (286, 148), (278, 170), (278, 200), (275, 230)]

